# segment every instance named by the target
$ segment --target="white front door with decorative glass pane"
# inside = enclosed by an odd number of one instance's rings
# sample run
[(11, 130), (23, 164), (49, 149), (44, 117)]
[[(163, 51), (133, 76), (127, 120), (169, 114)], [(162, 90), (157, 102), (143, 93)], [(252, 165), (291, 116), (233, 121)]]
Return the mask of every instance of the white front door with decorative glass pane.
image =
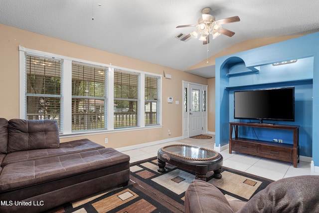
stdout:
[(189, 137), (203, 133), (202, 86), (189, 84)]

